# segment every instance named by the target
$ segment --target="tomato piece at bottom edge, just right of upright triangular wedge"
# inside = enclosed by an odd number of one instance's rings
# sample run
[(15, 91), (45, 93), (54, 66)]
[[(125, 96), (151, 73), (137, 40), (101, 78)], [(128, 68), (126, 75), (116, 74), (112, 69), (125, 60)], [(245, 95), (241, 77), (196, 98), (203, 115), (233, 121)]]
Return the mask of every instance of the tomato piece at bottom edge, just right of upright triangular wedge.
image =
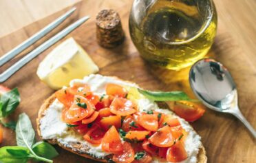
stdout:
[(123, 142), (122, 152), (120, 154), (113, 155), (112, 160), (116, 163), (131, 163), (134, 161), (134, 149), (129, 142)]

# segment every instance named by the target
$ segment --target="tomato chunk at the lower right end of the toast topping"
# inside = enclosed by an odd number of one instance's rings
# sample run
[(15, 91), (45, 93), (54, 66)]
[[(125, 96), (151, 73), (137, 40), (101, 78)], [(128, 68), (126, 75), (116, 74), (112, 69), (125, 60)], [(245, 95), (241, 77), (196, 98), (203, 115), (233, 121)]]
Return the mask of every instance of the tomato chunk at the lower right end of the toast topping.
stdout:
[(173, 146), (169, 147), (167, 151), (168, 162), (181, 162), (187, 157), (188, 156), (182, 142), (176, 142)]

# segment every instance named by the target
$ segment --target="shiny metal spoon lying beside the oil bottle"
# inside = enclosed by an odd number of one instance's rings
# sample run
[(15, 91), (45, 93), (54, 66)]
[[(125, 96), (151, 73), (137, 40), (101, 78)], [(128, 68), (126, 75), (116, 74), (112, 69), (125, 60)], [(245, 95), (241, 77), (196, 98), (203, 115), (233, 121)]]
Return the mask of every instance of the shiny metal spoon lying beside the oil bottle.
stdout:
[(206, 107), (231, 113), (241, 120), (256, 138), (256, 131), (239, 111), (237, 89), (228, 69), (213, 59), (204, 58), (195, 63), (189, 72), (189, 83)]

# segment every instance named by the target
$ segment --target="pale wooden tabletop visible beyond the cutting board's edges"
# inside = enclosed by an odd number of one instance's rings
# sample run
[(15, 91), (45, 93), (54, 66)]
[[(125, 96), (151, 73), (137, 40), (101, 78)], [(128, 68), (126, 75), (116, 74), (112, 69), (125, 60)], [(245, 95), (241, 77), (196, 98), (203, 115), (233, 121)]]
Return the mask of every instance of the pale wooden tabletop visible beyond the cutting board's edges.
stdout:
[[(0, 0), (0, 37), (77, 1), (81, 0)], [(250, 58), (251, 63), (256, 65), (256, 1), (214, 0), (214, 2), (223, 25), (242, 47), (242, 52)]]

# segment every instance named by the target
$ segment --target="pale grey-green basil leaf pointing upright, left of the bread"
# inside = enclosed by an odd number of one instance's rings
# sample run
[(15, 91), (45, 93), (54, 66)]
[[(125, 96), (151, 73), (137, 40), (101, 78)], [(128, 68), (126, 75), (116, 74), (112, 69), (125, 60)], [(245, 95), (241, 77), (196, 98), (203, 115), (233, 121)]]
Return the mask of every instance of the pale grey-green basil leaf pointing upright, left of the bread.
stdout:
[(31, 147), (34, 144), (34, 129), (30, 118), (25, 113), (19, 115), (16, 125), (16, 141), (18, 146)]

